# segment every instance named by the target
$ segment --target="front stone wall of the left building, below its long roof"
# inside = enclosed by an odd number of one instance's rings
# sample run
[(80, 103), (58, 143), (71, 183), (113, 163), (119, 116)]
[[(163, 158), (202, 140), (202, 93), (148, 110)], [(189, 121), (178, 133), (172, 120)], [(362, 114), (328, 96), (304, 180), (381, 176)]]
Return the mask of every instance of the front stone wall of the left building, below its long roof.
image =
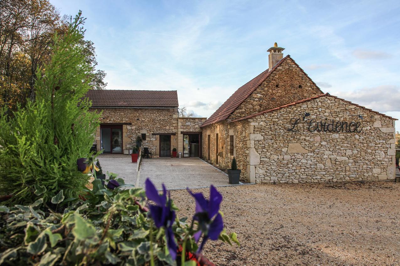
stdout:
[[(100, 112), (101, 110), (96, 110)], [(159, 136), (152, 133), (178, 133), (177, 108), (104, 108), (100, 123), (132, 123), (122, 126), (123, 149), (136, 146), (136, 137), (146, 134), (142, 148), (148, 147), (153, 155), (159, 153)], [(100, 128), (96, 134), (98, 150), (100, 150)], [(171, 150), (178, 146), (178, 136), (171, 136)]]

